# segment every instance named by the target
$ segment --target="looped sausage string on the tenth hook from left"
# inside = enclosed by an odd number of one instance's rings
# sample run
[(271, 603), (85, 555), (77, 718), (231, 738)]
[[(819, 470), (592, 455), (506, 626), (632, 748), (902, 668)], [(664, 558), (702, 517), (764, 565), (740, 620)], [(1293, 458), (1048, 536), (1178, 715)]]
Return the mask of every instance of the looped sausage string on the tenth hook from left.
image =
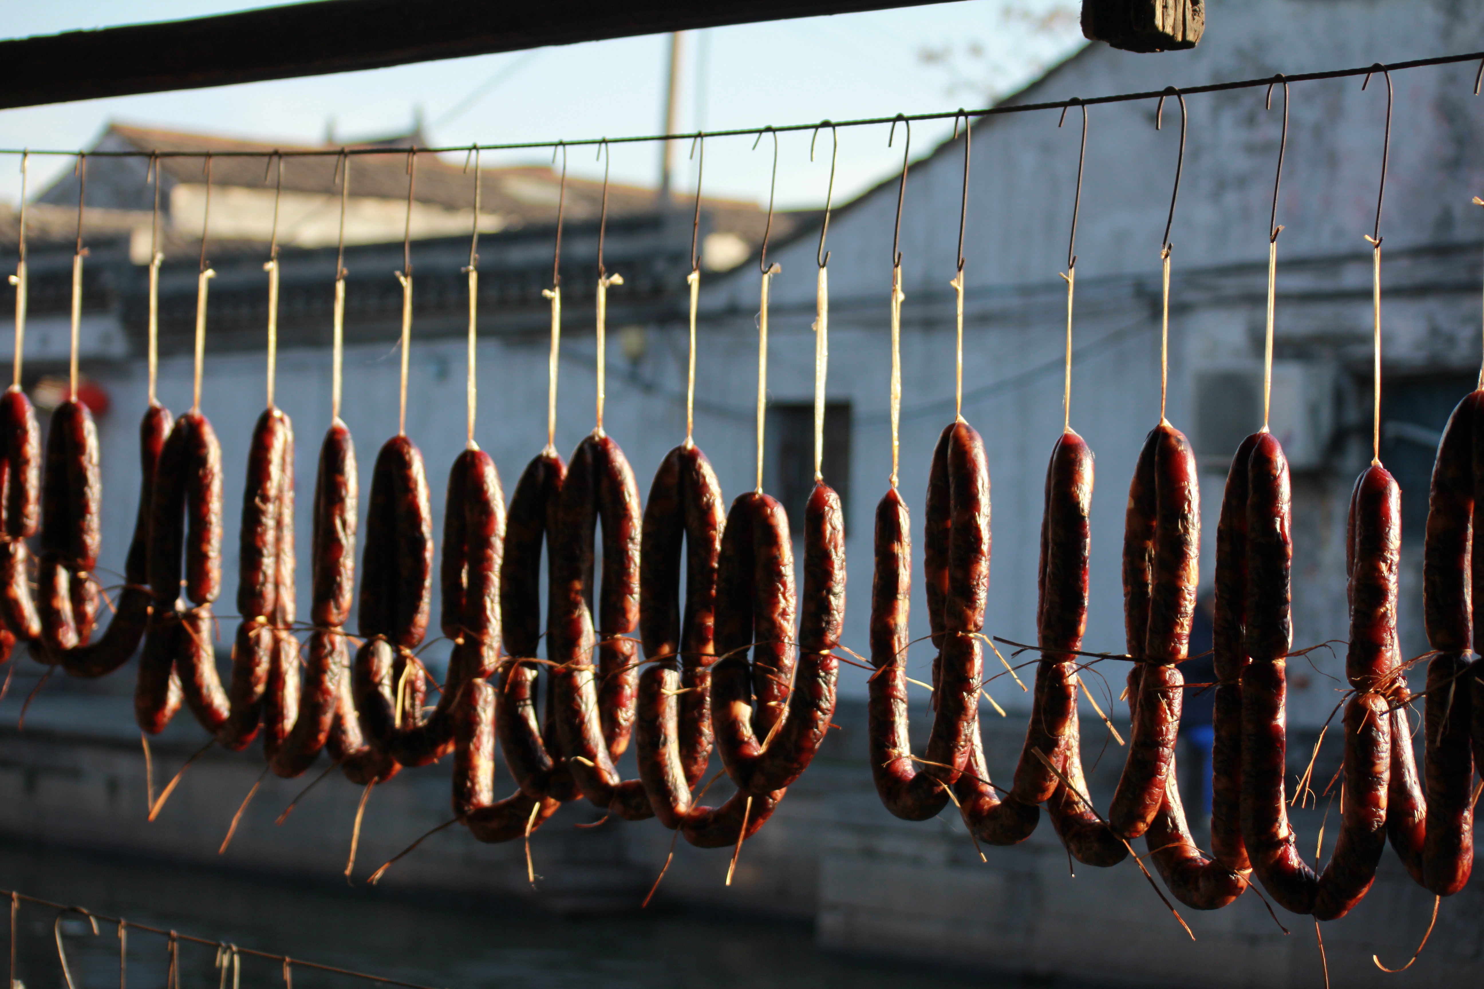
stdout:
[[(594, 621), (594, 526), (603, 522), (603, 586)], [(591, 802), (623, 820), (651, 817), (640, 780), (613, 762), (634, 727), (638, 663), (628, 638), (640, 612), (640, 494), (613, 439), (594, 430), (573, 451), (558, 507), (551, 601), (552, 694), (567, 770)], [(594, 661), (597, 658), (597, 661)]]

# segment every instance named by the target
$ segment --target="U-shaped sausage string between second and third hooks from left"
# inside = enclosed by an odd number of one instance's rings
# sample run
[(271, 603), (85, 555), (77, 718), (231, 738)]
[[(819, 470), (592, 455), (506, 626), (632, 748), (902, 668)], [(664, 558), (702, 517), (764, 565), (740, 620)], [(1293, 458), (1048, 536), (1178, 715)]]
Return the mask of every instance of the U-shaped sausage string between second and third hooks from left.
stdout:
[[(108, 629), (89, 644), (96, 614), (96, 578), (91, 571), (96, 563), (101, 509), (98, 431), (92, 414), (82, 403), (65, 402), (53, 412), (43, 500), (43, 506), (49, 506), (43, 509), (43, 520), (53, 534), (47, 535), (43, 526), (43, 553), (37, 568), (40, 608), (31, 606), (24, 569), (19, 587), (25, 593), (7, 595), (12, 615), (31, 615), (39, 636), (31, 639), (30, 648), (40, 661), (61, 664), (73, 676), (96, 678), (123, 666), (139, 646), (150, 615), (147, 553), (154, 467), (169, 427), (171, 414), (159, 406), (150, 406), (139, 423), (139, 509), (125, 563), (125, 586)], [(89, 546), (92, 562), (85, 555)], [(6, 623), (12, 620), (7, 617)], [(24, 626), (18, 623), (16, 627)]]

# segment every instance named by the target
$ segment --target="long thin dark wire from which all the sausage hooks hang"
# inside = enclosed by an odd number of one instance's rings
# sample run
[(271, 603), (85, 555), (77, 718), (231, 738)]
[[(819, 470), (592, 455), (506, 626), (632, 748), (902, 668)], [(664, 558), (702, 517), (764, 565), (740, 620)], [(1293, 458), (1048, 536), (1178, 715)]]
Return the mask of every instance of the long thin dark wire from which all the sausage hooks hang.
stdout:
[[(1261, 79), (1242, 79), (1226, 83), (1208, 83), (1205, 86), (1190, 86), (1186, 89), (1177, 89), (1174, 86), (1166, 86), (1160, 90), (1144, 90), (1131, 93), (1114, 93), (1109, 96), (1088, 96), (1088, 98), (1068, 98), (1057, 99), (1052, 102), (1030, 102), (1030, 104), (1000, 104), (997, 107), (985, 107), (982, 110), (945, 110), (938, 113), (917, 113), (917, 114), (893, 114), (890, 117), (862, 117), (858, 120), (835, 120), (833, 122), (835, 128), (865, 128), (877, 125), (889, 125), (893, 120), (951, 120), (968, 113), (971, 117), (994, 117), (1009, 113), (1034, 113), (1039, 110), (1066, 110), (1068, 107), (1079, 105), (1098, 105), (1098, 104), (1114, 104), (1114, 102), (1138, 102), (1143, 99), (1159, 99), (1160, 96), (1169, 96), (1178, 92), (1184, 96), (1195, 96), (1199, 93), (1217, 93), (1227, 92), (1233, 89), (1257, 89), (1260, 86), (1270, 86), (1273, 82), (1288, 82), (1291, 83), (1307, 83), (1319, 82), (1325, 79), (1347, 79), (1352, 76), (1367, 76), (1370, 73), (1379, 71), (1402, 71), (1407, 68), (1426, 68), (1429, 65), (1457, 65), (1460, 62), (1480, 62), (1484, 68), (1484, 52), (1469, 52), (1468, 55), (1441, 55), (1438, 58), (1419, 58), (1408, 62), (1392, 62), (1383, 65), (1374, 62), (1371, 65), (1355, 67), (1355, 68), (1336, 68), (1324, 73), (1300, 73), (1297, 76), (1263, 76)], [(788, 125), (769, 125), (763, 128), (739, 128), (733, 130), (708, 130), (706, 138), (741, 138), (754, 136), (761, 133), (789, 133), (795, 130), (813, 130), (818, 128), (818, 122), (810, 123), (788, 123)], [(647, 133), (635, 135), (628, 138), (580, 138), (580, 139), (555, 139), (555, 141), (519, 141), (513, 144), (484, 144), (478, 147), (481, 151), (521, 151), (534, 148), (555, 148), (559, 145), (567, 147), (582, 147), (582, 145), (598, 145), (598, 144), (643, 144), (647, 141), (692, 141), (702, 136), (699, 130), (686, 133)], [(337, 154), (407, 154), (410, 151), (423, 151), (429, 154), (442, 154), (454, 151), (472, 151), (473, 144), (459, 144), (447, 147), (430, 147), (430, 148), (393, 148), (393, 147), (375, 147), (375, 148), (306, 148), (298, 151), (217, 151), (212, 150), (211, 156), (218, 159), (230, 157), (254, 157), (267, 159), (273, 156), (282, 157), (328, 157)], [(162, 157), (162, 159), (178, 159), (178, 157), (205, 157), (206, 150), (199, 151), (88, 151), (88, 157), (92, 159), (107, 159), (107, 157)], [(0, 154), (64, 154), (76, 156), (76, 150), (37, 150), (37, 148), (0, 148)]]

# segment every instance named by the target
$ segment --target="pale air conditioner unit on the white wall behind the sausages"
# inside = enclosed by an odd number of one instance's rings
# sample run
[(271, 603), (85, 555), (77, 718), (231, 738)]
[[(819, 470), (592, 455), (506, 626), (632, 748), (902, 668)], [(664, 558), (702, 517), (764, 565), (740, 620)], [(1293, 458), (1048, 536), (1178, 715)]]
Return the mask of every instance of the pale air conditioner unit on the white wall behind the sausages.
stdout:
[[(1226, 469), (1242, 440), (1263, 427), (1263, 368), (1205, 368), (1195, 377), (1196, 457), (1202, 466)], [(1324, 464), (1334, 434), (1334, 366), (1313, 360), (1275, 360), (1273, 436), (1293, 470)]]

